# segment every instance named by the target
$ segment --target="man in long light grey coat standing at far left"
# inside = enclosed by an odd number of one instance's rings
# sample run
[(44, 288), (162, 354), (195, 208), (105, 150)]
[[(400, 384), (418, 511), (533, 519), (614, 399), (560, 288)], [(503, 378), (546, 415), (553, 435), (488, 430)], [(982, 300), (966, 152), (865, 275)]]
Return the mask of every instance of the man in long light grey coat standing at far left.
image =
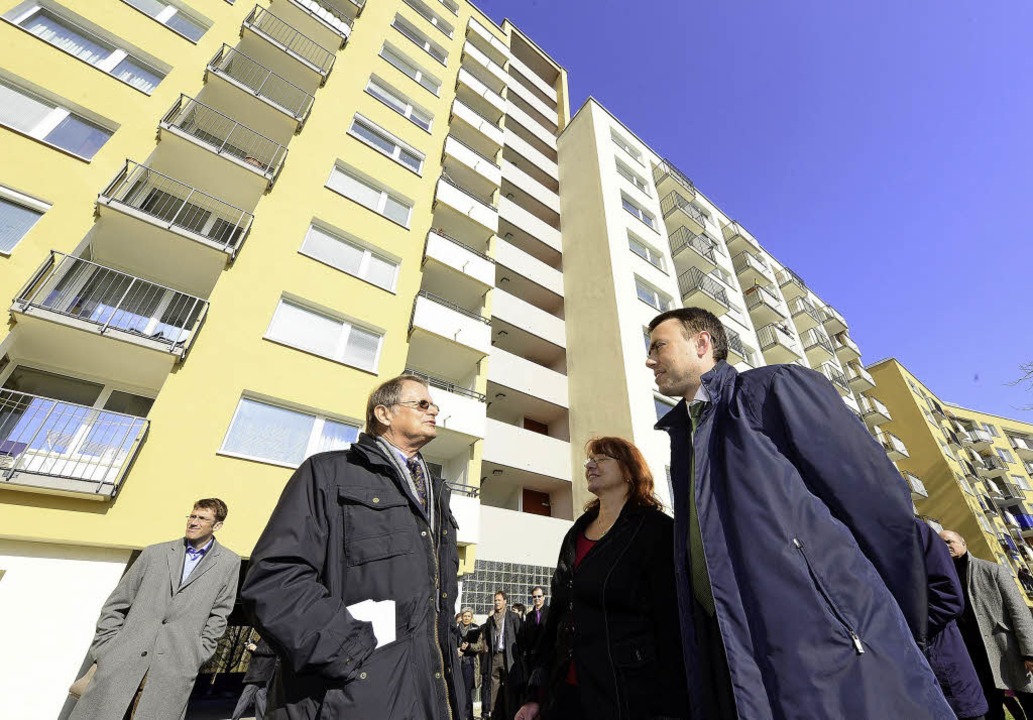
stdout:
[(218, 498), (198, 500), (185, 537), (145, 547), (122, 576), (100, 611), (90, 647), (96, 674), (71, 720), (186, 715), (237, 598), (241, 559), (215, 539), (226, 513)]

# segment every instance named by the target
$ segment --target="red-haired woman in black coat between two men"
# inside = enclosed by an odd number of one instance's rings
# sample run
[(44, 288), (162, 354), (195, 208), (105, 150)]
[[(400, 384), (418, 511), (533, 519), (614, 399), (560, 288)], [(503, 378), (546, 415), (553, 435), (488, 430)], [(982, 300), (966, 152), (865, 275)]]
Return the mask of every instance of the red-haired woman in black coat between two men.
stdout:
[(688, 718), (674, 522), (638, 448), (604, 437), (585, 449), (596, 497), (563, 539), (532, 699), (516, 720)]

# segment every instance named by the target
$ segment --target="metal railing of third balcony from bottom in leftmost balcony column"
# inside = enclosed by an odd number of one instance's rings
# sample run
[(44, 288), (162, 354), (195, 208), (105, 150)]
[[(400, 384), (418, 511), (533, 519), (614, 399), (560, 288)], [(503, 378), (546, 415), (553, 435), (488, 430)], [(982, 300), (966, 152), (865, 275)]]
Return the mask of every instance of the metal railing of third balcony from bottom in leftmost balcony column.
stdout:
[(132, 160), (108, 183), (101, 198), (139, 211), (166, 227), (204, 237), (236, 255), (254, 216), (197, 188)]

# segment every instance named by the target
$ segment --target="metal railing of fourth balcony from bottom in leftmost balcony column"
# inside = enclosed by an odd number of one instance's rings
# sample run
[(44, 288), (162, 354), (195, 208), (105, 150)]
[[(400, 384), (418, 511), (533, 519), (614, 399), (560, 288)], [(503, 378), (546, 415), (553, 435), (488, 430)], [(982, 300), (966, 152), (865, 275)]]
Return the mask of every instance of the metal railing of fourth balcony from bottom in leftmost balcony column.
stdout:
[(287, 157), (287, 149), (276, 140), (187, 95), (180, 95), (161, 119), (161, 125), (187, 133), (214, 153), (241, 160), (271, 183)]

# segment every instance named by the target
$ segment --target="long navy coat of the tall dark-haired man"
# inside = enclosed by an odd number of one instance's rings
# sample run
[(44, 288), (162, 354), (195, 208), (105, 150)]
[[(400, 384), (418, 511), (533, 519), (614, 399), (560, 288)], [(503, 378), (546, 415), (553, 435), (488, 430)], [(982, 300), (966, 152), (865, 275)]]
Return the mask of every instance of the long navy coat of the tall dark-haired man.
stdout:
[[(695, 495), (738, 715), (953, 718), (925, 647), (926, 573), (907, 486), (820, 373), (721, 362), (690, 448), (670, 434), (675, 568), (693, 717), (705, 720), (687, 557)], [(706, 718), (706, 720), (713, 720)]]

